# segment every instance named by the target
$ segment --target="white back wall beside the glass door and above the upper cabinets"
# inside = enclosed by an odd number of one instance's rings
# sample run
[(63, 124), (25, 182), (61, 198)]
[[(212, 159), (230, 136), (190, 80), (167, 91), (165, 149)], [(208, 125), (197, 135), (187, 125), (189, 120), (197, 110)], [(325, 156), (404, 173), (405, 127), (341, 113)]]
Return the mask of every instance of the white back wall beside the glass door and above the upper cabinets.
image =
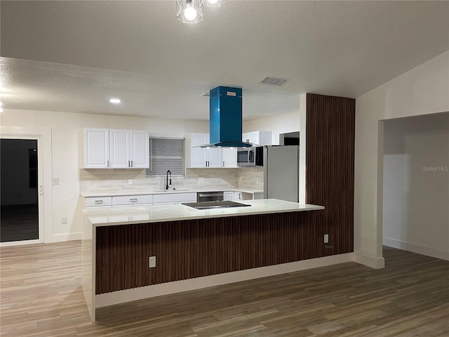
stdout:
[[(2, 128), (51, 128), (51, 167), (44, 170), (60, 178), (53, 185), (51, 216), (44, 218), (45, 242), (79, 239), (82, 230), (82, 203), (79, 197), (81, 130), (83, 127), (128, 128), (148, 130), (155, 136), (184, 137), (189, 132), (208, 132), (206, 121), (182, 121), (151, 119), (143, 117), (118, 117), (65, 112), (42, 112), (29, 110), (7, 110), (1, 113)], [(46, 149), (48, 150), (48, 149)], [(48, 179), (47, 179), (48, 180)], [(48, 183), (48, 182), (47, 182)], [(46, 185), (46, 182), (44, 182)], [(48, 194), (48, 189), (46, 190)], [(45, 199), (45, 198), (44, 198)], [(45, 202), (45, 201), (44, 201)], [(61, 224), (62, 216), (68, 217), (67, 225)], [(48, 228), (51, 228), (48, 231)]]

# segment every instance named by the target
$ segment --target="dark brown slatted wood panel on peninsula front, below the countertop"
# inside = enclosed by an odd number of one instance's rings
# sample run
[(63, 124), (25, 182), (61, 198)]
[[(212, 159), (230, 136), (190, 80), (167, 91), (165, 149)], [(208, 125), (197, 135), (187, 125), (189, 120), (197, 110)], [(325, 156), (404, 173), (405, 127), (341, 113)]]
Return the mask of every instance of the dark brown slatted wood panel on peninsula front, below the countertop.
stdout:
[(321, 213), (98, 227), (96, 293), (321, 256)]

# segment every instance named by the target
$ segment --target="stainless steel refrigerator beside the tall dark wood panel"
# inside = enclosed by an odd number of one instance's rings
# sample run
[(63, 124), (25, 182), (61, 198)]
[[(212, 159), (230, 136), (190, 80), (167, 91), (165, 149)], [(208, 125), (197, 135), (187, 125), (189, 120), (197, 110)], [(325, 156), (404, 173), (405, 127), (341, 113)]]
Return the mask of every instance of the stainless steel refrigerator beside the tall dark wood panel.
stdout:
[(264, 147), (264, 198), (298, 202), (299, 145)]

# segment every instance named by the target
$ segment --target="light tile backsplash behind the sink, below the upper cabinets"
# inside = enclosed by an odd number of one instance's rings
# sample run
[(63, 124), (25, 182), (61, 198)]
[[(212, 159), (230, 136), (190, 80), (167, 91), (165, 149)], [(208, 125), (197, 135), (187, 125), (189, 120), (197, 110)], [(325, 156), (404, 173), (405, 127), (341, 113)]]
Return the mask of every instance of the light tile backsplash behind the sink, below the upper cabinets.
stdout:
[[(232, 190), (238, 187), (263, 190), (263, 168), (241, 169), (186, 169), (185, 177), (172, 177), (177, 188), (220, 188)], [(137, 169), (80, 169), (80, 192), (118, 192), (161, 190), (166, 177), (146, 178), (145, 170)]]

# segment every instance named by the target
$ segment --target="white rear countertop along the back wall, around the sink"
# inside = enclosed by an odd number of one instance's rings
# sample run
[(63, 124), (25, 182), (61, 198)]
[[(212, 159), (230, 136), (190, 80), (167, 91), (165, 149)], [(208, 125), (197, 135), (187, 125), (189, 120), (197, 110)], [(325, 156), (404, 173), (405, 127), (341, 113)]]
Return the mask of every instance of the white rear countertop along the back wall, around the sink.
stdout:
[(223, 187), (211, 187), (211, 188), (199, 188), (196, 190), (187, 190), (180, 188), (179, 190), (122, 190), (122, 191), (98, 191), (98, 192), (81, 192), (81, 197), (117, 197), (121, 195), (145, 195), (145, 194), (173, 194), (173, 193), (196, 193), (196, 192), (227, 192), (236, 191), (243, 193), (263, 193), (263, 190), (252, 190), (250, 188), (223, 188)]

